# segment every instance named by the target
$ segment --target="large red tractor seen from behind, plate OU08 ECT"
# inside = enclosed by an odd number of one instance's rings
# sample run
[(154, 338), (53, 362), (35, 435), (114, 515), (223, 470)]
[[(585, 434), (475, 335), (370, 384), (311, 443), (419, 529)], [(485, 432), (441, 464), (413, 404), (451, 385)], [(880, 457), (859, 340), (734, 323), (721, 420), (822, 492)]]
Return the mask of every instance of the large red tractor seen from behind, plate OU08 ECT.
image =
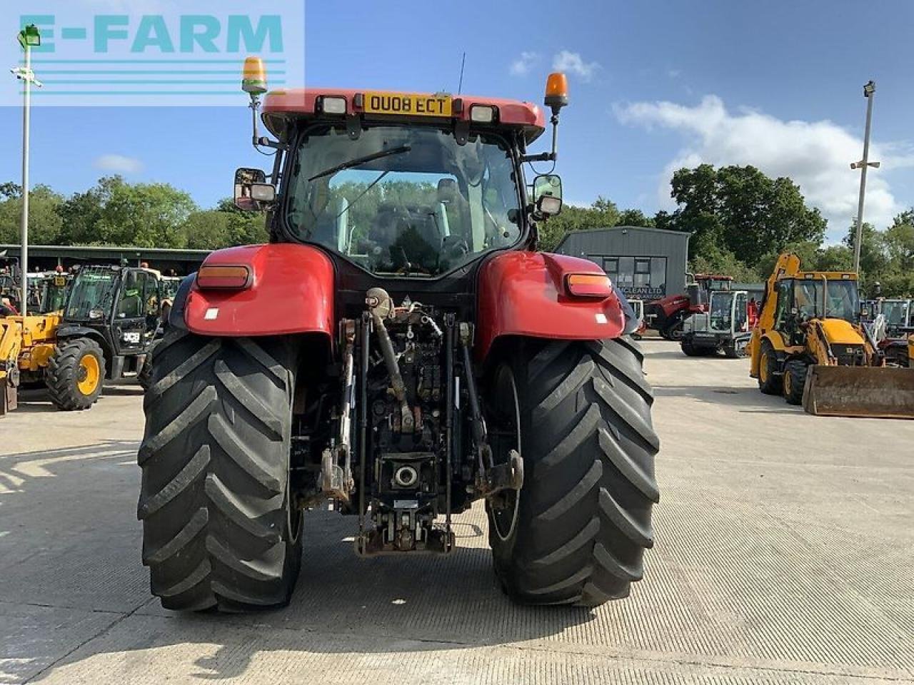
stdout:
[[(525, 182), (544, 111), (514, 100), (281, 90), (235, 178), (268, 245), (212, 253), (154, 352), (139, 450), (143, 564), (163, 606), (289, 602), (303, 512), (334, 503), (355, 551), (451, 553), (484, 501), (494, 568), (529, 604), (629, 594), (654, 544), (653, 394), (592, 262), (537, 252), (561, 208)], [(566, 81), (547, 82), (553, 127)], [(367, 569), (367, 573), (370, 571)], [(370, 576), (369, 576), (370, 577)]]

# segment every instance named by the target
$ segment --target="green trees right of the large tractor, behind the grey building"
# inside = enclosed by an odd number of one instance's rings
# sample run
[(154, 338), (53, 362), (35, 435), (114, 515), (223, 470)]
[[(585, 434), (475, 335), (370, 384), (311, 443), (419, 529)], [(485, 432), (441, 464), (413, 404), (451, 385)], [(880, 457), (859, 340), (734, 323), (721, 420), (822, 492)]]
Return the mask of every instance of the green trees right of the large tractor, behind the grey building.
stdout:
[[(590, 207), (566, 206), (541, 227), (541, 243), (555, 248), (565, 233), (585, 228), (655, 227), (692, 234), (689, 267), (696, 273), (758, 282), (786, 251), (799, 255), (803, 269), (853, 267), (855, 227), (848, 227), (841, 243), (825, 245), (824, 216), (806, 205), (790, 178), (770, 178), (753, 166), (701, 164), (673, 174), (671, 196), (676, 209), (654, 216), (621, 210), (603, 197)], [(914, 207), (884, 230), (864, 224), (860, 279), (867, 295), (878, 282), (885, 297), (914, 296)]]

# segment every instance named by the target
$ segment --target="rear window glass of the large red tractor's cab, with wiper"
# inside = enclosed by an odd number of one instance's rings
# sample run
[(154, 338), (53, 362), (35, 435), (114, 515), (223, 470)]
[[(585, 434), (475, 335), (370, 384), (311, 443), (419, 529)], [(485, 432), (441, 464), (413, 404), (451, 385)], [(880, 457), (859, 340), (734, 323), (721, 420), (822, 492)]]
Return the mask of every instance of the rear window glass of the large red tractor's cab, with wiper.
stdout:
[(310, 132), (289, 184), (294, 237), (382, 276), (434, 277), (520, 239), (515, 167), (505, 142), (390, 126)]

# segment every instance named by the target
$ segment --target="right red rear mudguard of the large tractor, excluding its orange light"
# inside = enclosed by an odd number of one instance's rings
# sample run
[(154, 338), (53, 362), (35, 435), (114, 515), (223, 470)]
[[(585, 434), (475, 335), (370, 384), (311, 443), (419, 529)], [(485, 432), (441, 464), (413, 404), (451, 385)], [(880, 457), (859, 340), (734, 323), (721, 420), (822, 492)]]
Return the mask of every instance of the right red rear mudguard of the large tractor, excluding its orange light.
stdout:
[(625, 315), (615, 295), (605, 300), (569, 297), (565, 277), (597, 273), (592, 261), (545, 252), (505, 252), (489, 259), (479, 277), (476, 354), (484, 359), (502, 335), (558, 340), (618, 338)]

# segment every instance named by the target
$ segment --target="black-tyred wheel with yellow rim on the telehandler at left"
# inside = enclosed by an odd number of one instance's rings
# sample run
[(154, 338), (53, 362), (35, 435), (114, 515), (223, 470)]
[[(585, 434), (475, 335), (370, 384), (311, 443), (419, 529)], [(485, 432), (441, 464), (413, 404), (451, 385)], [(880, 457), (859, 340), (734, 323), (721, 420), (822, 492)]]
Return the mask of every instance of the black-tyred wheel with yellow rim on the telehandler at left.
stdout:
[(89, 338), (61, 342), (48, 359), (48, 395), (63, 411), (95, 404), (104, 378), (105, 355), (99, 343)]

